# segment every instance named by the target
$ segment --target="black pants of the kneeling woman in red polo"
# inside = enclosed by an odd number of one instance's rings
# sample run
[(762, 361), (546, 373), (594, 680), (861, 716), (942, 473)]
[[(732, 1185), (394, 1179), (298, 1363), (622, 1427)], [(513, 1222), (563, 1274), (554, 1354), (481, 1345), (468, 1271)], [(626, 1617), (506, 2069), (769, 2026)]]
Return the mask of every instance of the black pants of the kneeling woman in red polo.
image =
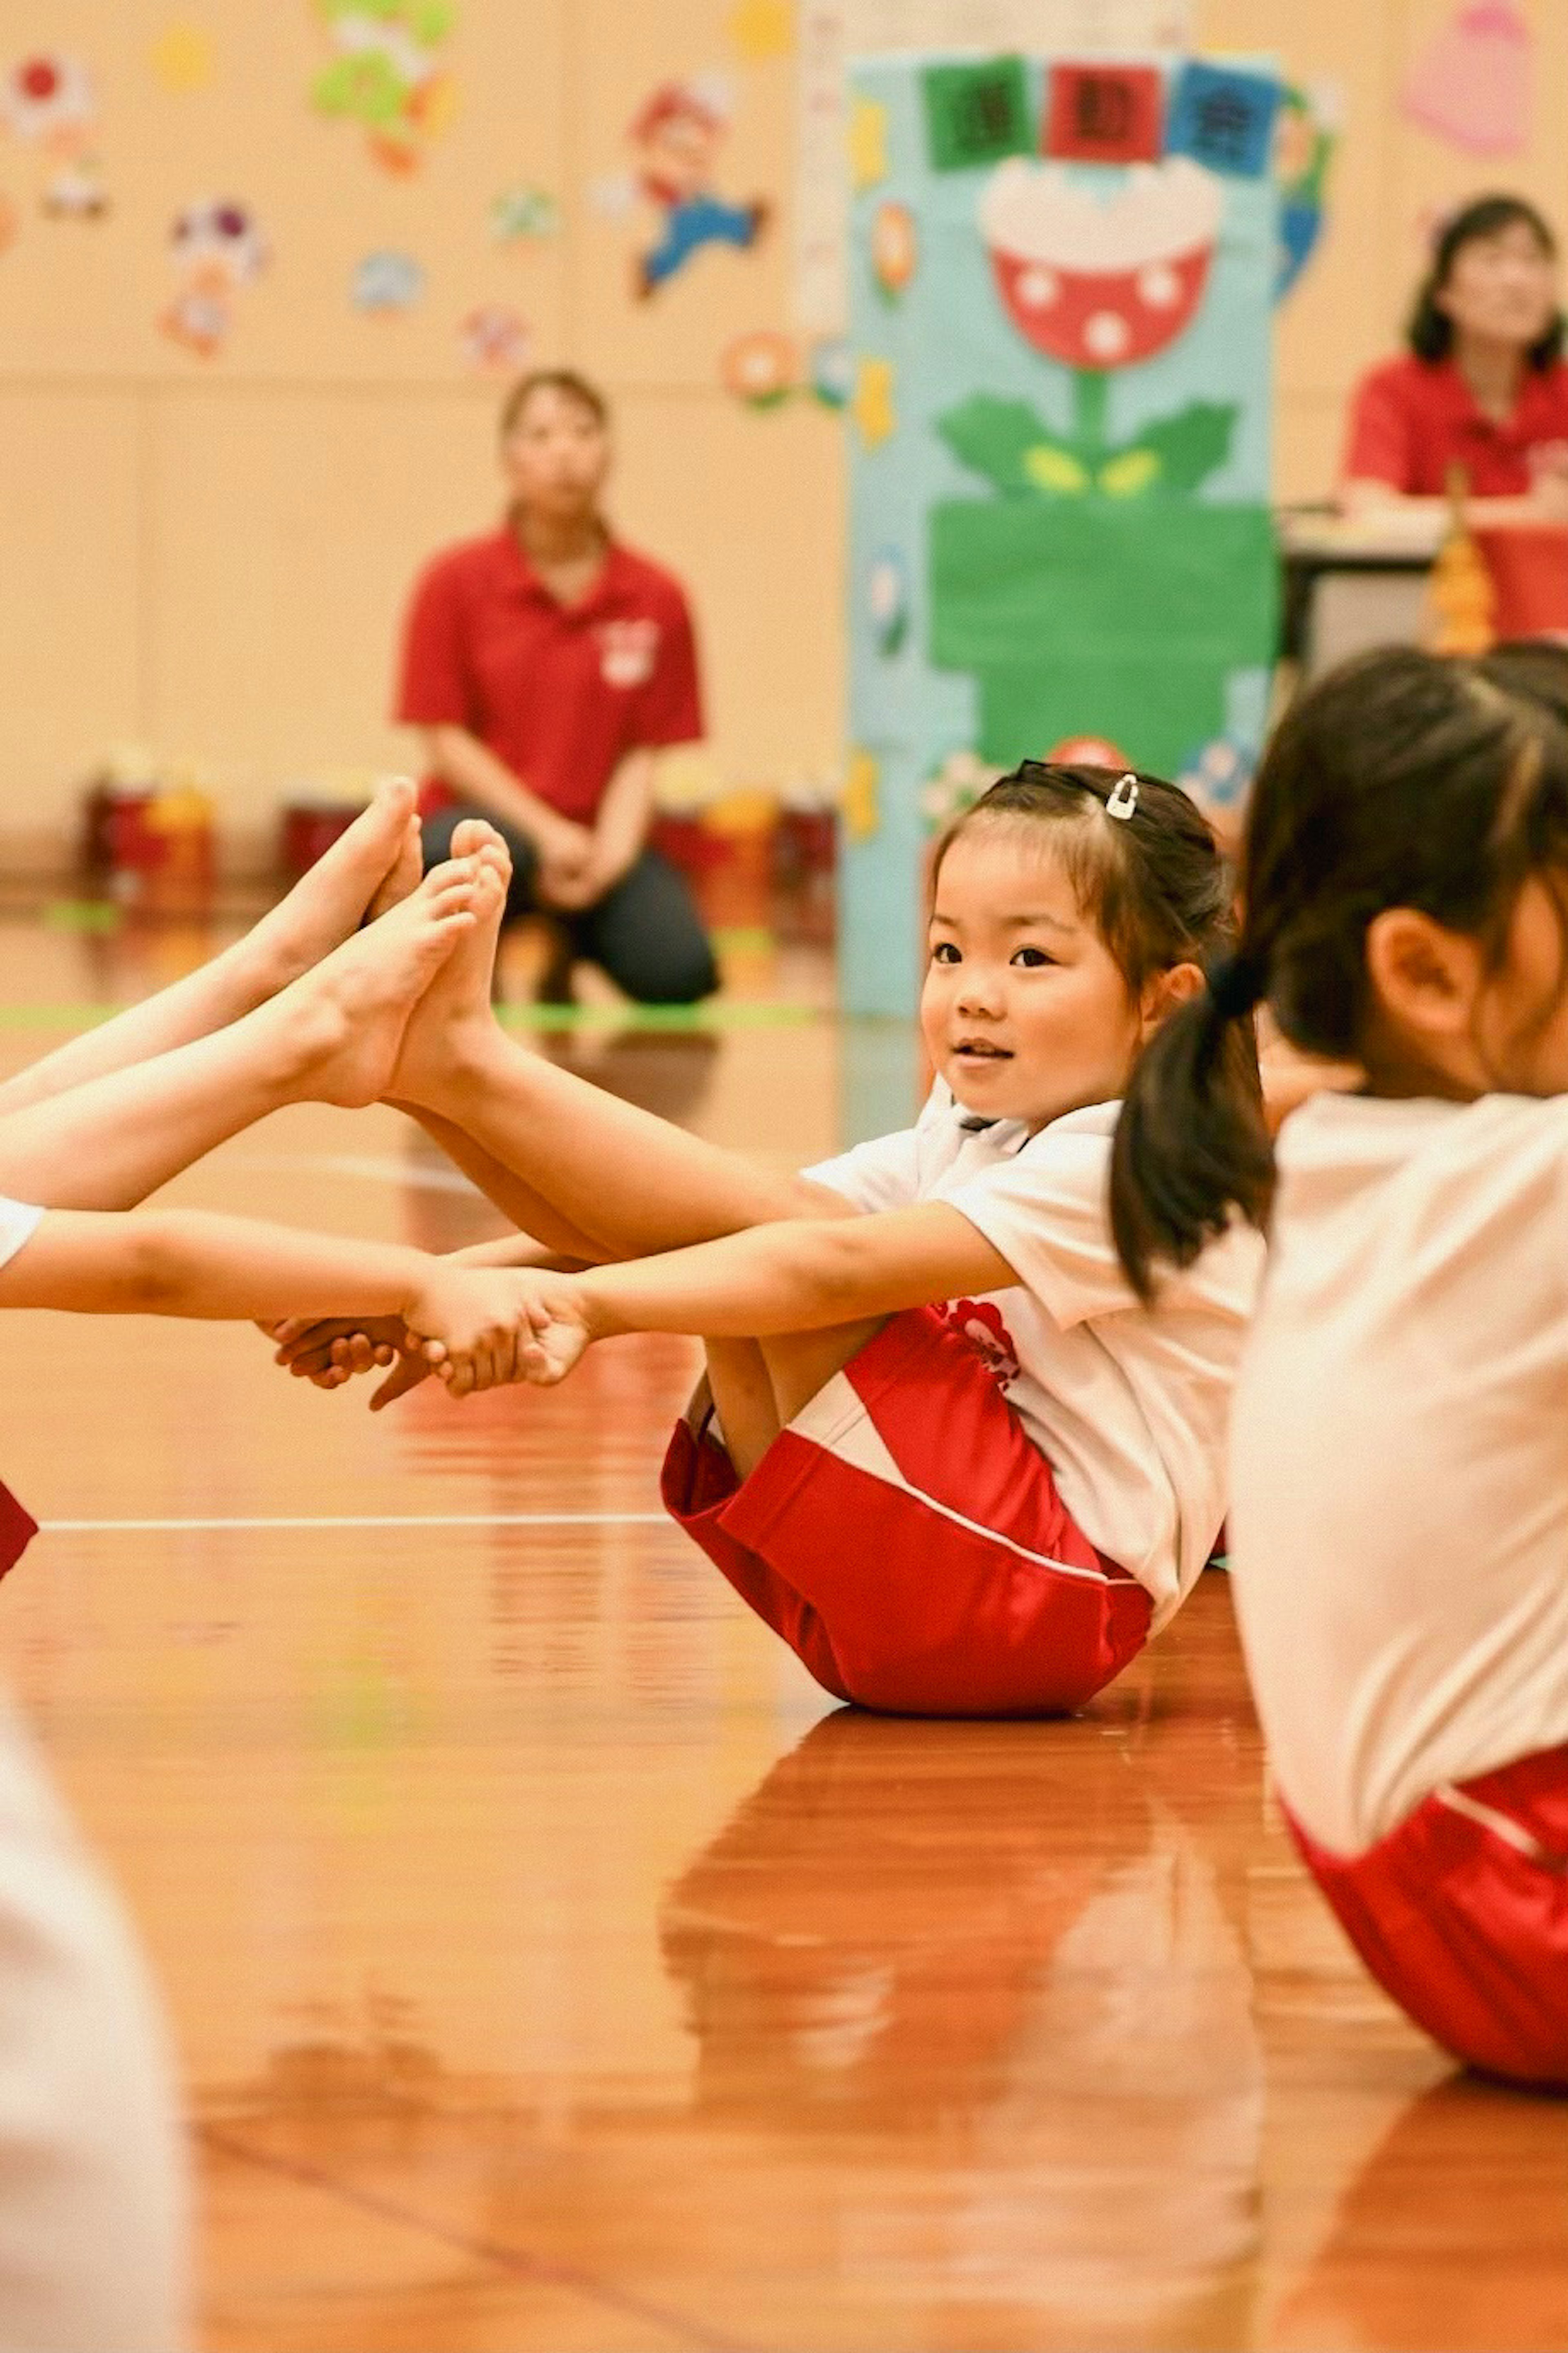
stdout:
[[(483, 816), (483, 809), (436, 809), (424, 819), (426, 871), (452, 854), (452, 833), (464, 816)], [(494, 819), (490, 819), (494, 824)], [(718, 965), (709, 934), (702, 929), (697, 904), (669, 859), (657, 849), (643, 849), (622, 880), (605, 892), (598, 906), (539, 908), (534, 878), (539, 859), (532, 842), (497, 826), (511, 849), (511, 894), (506, 918), (546, 913), (558, 922), (572, 955), (603, 965), (617, 988), (624, 988), (638, 1005), (695, 1005), (718, 988)]]

